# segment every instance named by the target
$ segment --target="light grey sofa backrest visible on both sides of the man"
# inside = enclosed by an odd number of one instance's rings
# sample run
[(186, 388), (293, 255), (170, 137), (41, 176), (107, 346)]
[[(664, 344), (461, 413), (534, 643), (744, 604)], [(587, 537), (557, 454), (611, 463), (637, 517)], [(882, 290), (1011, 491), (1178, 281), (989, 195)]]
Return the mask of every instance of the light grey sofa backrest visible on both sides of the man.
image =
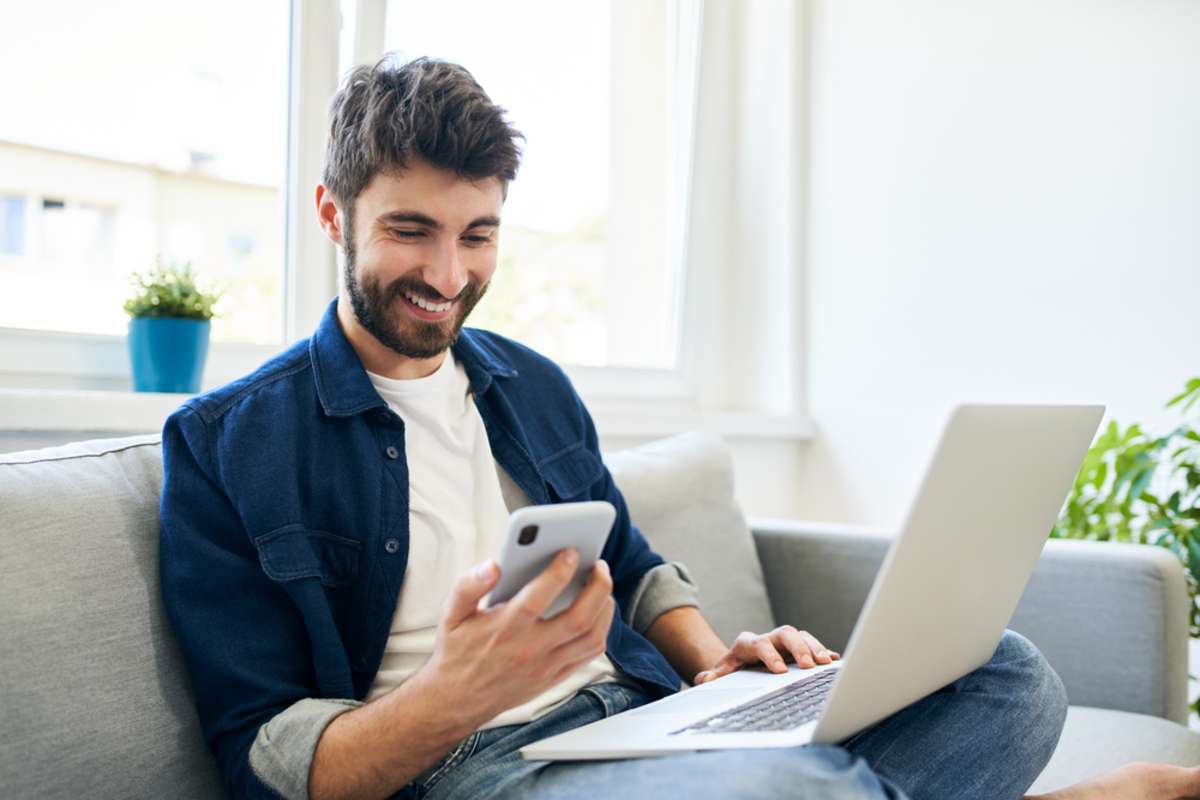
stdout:
[[(606, 457), (632, 518), (685, 563), (727, 640), (772, 625), (715, 437)], [(216, 798), (158, 590), (160, 438), (0, 455), (0, 787), (13, 798)]]

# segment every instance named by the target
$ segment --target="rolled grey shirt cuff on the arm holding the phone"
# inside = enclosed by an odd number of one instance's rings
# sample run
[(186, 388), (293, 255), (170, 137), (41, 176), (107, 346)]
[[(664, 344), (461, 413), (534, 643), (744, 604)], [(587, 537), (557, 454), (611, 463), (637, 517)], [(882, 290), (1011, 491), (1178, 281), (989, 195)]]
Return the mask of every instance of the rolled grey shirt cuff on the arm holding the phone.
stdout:
[(293, 703), (258, 729), (250, 747), (250, 769), (284, 800), (306, 800), (317, 741), (334, 717), (360, 705), (355, 700), (324, 698)]

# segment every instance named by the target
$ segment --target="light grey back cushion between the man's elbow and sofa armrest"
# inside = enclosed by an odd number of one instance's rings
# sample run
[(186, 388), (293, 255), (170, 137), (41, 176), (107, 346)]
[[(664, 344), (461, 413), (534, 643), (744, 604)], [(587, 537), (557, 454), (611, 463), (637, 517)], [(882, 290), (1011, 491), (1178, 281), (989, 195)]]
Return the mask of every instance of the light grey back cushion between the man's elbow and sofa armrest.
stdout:
[(733, 499), (733, 462), (720, 438), (684, 433), (605, 455), (634, 523), (700, 587), (704, 616), (726, 642), (774, 627), (754, 539)]

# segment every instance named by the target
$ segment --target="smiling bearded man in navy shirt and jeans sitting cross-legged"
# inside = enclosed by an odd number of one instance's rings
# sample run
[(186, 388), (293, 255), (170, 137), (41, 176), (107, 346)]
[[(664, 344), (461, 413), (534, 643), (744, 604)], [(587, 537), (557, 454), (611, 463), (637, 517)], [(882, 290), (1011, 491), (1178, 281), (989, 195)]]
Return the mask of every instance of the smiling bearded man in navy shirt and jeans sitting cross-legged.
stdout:
[[(338, 297), (311, 339), (166, 425), (163, 595), (233, 794), (1019, 796), (1066, 698), (1016, 634), (842, 747), (520, 759), (679, 676), (839, 656), (790, 626), (726, 646), (632, 525), (563, 372), (462, 329), (496, 270), (518, 137), (461, 67), (354, 71), (316, 197)], [(584, 499), (618, 513), (575, 603), (540, 619), (574, 571), (563, 552), (480, 608), (508, 512)]]

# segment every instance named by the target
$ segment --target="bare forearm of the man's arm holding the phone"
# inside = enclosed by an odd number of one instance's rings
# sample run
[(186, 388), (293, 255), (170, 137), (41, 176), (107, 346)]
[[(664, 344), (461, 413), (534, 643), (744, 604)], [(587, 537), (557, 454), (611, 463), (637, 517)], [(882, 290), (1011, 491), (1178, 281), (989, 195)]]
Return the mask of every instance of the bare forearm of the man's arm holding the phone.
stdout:
[(461, 699), (422, 670), (384, 697), (336, 717), (317, 742), (308, 796), (395, 794), (484, 722), (462, 714)]

